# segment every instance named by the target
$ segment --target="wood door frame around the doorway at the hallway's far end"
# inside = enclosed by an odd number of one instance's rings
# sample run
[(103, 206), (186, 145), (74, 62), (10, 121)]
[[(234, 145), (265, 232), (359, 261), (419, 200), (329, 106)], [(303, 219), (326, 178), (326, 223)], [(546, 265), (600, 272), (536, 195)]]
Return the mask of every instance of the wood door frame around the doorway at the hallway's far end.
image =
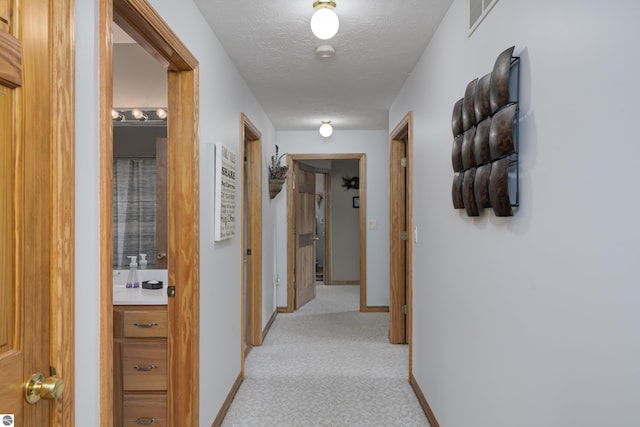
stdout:
[[(287, 176), (287, 265), (295, 265), (295, 236), (293, 235), (293, 223), (295, 215), (295, 205), (293, 203), (294, 188), (291, 176), (294, 169), (294, 162), (304, 160), (357, 160), (358, 173), (360, 176), (360, 311), (386, 311), (386, 307), (367, 306), (367, 155), (366, 153), (344, 153), (344, 154), (287, 154), (287, 165), (289, 173)], [(325, 192), (327, 190), (325, 189)], [(328, 197), (327, 197), (328, 198)], [(326, 232), (326, 231), (325, 231)], [(329, 233), (327, 233), (329, 234)], [(330, 238), (325, 238), (325, 244), (330, 243)], [(325, 266), (326, 268), (326, 266)], [(295, 279), (293, 268), (287, 268), (287, 306), (281, 308), (281, 312), (292, 313), (295, 310), (293, 281)]]

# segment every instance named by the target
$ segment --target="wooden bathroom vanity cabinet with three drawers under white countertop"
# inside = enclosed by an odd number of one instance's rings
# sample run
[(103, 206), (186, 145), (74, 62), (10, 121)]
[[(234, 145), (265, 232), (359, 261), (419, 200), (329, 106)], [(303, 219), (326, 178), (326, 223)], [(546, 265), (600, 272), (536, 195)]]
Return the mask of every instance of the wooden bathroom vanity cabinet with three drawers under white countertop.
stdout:
[(166, 306), (113, 309), (116, 426), (167, 425)]

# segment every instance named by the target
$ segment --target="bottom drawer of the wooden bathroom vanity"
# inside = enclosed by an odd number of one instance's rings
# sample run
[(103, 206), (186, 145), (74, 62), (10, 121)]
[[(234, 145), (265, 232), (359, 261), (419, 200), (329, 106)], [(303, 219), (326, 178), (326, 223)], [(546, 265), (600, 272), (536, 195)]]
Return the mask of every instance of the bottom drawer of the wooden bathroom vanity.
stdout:
[(166, 427), (166, 394), (125, 394), (124, 427)]

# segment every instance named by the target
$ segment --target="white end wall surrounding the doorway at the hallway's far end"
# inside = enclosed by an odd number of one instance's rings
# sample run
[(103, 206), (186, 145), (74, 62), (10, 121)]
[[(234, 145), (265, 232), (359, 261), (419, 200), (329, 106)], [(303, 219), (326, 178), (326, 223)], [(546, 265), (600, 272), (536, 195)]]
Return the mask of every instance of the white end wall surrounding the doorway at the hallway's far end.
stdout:
[[(340, 131), (322, 138), (317, 131), (280, 131), (276, 139), (281, 153), (366, 153), (367, 219), (377, 220), (367, 230), (367, 305), (389, 305), (389, 134), (386, 131)], [(266, 150), (266, 147), (265, 147)], [(278, 306), (287, 305), (287, 195), (271, 200), (277, 229)]]

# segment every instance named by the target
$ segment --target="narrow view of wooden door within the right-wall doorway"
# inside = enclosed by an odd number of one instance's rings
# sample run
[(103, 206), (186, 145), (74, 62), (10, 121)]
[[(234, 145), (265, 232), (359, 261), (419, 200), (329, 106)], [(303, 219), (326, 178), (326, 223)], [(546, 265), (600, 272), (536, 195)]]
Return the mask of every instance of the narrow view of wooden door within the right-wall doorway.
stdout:
[(407, 342), (407, 212), (406, 212), (406, 144), (403, 140), (391, 141), (389, 177), (391, 291), (389, 303), (389, 341), (392, 344)]

